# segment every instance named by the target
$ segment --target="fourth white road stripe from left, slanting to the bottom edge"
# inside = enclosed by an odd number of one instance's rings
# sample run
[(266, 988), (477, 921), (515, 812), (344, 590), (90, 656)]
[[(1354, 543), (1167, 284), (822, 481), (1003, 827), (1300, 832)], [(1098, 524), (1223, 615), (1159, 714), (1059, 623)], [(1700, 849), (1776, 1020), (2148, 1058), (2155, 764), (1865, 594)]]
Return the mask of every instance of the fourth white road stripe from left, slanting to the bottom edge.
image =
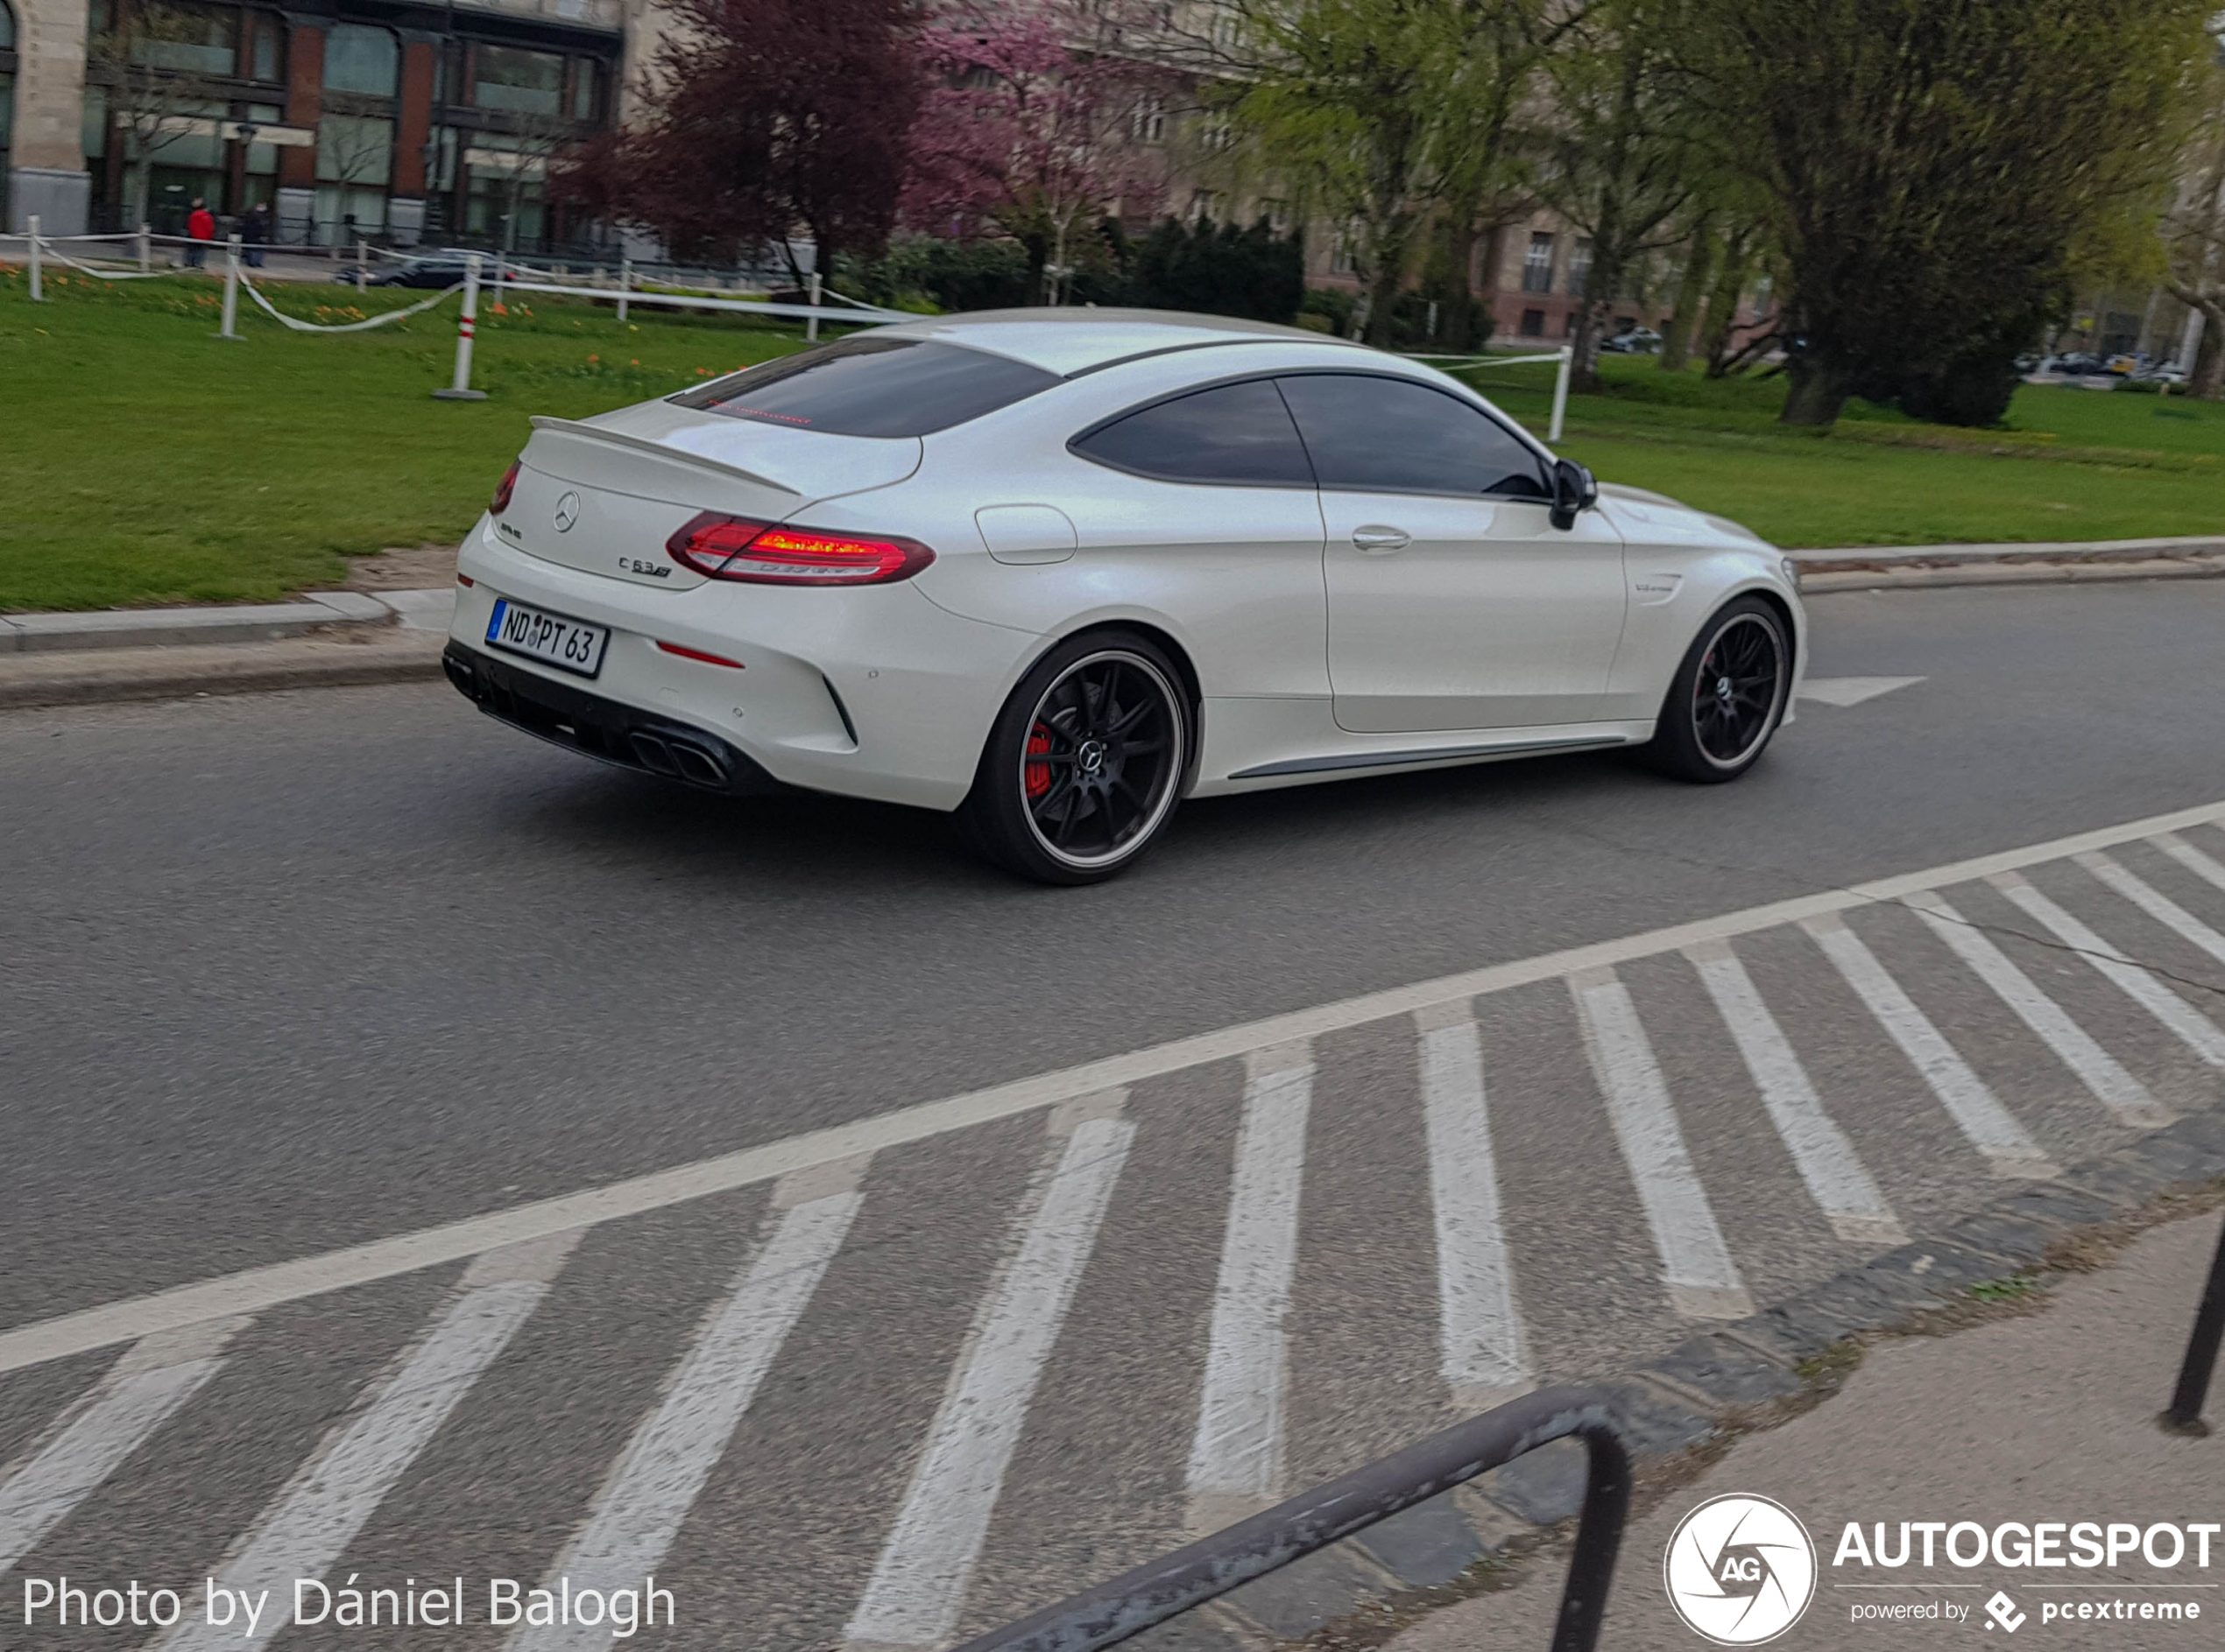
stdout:
[(1028, 1403), (1133, 1141), (1126, 1118), (1086, 1118), (1066, 1138), (934, 1412), (903, 1507), (850, 1616), (850, 1645), (930, 1648), (957, 1630)]

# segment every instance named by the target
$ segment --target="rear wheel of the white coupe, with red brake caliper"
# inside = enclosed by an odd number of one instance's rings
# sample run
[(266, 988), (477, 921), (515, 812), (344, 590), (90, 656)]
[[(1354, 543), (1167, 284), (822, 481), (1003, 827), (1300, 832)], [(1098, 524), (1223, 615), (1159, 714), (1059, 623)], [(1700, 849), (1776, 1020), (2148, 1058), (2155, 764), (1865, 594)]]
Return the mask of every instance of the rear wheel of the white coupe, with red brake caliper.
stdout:
[(1133, 867), (1181, 800), (1193, 714), (1181, 674), (1133, 631), (1050, 649), (981, 749), (959, 832), (1035, 883), (1104, 883)]

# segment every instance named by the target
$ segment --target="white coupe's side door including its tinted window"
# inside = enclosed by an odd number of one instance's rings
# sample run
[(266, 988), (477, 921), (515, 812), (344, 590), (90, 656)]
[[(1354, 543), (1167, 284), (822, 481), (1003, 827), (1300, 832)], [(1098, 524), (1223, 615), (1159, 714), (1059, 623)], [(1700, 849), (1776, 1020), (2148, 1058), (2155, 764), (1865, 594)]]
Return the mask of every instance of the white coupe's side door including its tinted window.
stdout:
[(1388, 374), (1277, 380), (1322, 487), (1328, 680), (1355, 734), (1602, 716), (1622, 538), (1551, 525), (1537, 451), (1482, 407)]

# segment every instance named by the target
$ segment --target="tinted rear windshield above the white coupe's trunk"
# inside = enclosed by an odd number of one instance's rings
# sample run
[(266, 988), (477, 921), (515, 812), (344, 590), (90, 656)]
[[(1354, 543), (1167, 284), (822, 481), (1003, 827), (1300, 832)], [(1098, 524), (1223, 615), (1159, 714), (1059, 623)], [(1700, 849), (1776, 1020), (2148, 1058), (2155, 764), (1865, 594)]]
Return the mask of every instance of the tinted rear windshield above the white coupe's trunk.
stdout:
[(672, 400), (830, 436), (932, 436), (1057, 382), (1057, 374), (979, 349), (866, 336), (748, 367)]

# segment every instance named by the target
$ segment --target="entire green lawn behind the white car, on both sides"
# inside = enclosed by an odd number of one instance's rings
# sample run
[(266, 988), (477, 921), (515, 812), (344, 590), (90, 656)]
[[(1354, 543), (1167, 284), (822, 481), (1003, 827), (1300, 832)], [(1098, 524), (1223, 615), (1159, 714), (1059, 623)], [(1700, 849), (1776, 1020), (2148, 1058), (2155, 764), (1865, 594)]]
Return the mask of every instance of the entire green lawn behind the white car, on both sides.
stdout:
[[(340, 287), (269, 289), (347, 320)], [(374, 291), (363, 311), (418, 293)], [(536, 300), (481, 316), (485, 402), (436, 402), (454, 300), (369, 334), (280, 329), (218, 282), (0, 271), (0, 609), (271, 600), (338, 583), (345, 556), (458, 538), (530, 414), (585, 416), (801, 347), (794, 327)], [(323, 307), (323, 314), (318, 311)], [(1542, 429), (1551, 367), (1475, 374)], [(1782, 545), (2138, 538), (2225, 531), (2225, 407), (2018, 391), (2002, 431), (1853, 405), (1829, 436), (1776, 427), (1782, 380), (1709, 382), (1609, 358), (1569, 407), (1566, 451), (1604, 480), (1733, 516)]]

